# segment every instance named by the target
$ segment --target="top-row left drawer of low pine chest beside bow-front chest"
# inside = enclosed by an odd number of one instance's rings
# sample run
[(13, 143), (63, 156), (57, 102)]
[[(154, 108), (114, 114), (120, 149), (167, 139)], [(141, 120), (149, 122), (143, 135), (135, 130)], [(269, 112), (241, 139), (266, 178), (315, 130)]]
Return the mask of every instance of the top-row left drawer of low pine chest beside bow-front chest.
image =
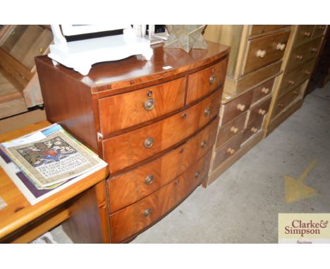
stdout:
[(238, 117), (238, 115), (244, 113), (250, 108), (252, 94), (252, 91), (249, 91), (221, 106), (221, 126), (224, 126), (230, 120)]

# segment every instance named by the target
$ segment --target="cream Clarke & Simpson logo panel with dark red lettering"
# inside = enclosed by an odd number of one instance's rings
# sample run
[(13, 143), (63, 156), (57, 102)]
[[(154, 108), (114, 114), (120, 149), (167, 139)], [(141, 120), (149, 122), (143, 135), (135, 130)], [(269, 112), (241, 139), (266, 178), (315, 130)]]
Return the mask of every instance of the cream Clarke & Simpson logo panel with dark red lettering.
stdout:
[(279, 213), (279, 243), (330, 243), (329, 220), (330, 213)]

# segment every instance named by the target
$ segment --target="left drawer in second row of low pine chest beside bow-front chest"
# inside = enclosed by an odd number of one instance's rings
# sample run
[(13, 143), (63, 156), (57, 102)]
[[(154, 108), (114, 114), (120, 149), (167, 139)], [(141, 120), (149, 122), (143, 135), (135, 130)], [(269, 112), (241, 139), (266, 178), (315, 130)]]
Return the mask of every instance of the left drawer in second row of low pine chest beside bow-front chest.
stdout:
[(238, 118), (231, 120), (229, 123), (219, 129), (216, 138), (216, 149), (219, 149), (222, 144), (233, 138), (236, 134), (238, 134), (244, 129), (246, 115), (247, 112), (238, 116)]

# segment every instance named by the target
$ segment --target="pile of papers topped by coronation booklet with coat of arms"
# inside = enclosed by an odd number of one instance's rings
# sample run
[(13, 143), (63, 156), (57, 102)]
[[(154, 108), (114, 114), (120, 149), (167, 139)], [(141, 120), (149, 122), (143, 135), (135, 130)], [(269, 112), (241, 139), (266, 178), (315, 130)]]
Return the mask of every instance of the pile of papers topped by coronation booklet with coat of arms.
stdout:
[(0, 144), (0, 166), (33, 205), (106, 163), (54, 124)]

